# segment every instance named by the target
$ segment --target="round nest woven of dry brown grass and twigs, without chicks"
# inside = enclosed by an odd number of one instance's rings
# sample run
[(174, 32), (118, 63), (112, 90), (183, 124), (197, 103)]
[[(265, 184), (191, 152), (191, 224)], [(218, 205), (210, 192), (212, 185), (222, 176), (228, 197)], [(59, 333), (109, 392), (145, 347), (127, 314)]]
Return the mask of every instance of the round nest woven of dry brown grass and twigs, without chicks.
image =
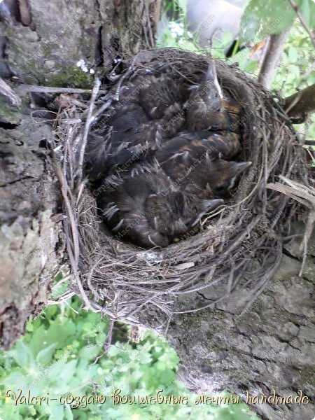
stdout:
[(221, 87), (242, 109), (239, 160), (252, 162), (238, 187), (222, 207), (165, 248), (144, 250), (106, 230), (84, 175), (89, 132), (135, 75), (165, 72), (199, 83), (208, 64), (207, 57), (193, 52), (144, 51), (121, 60), (104, 90), (95, 84), (89, 101), (72, 99), (59, 113), (54, 161), (67, 216), (71, 288), (89, 309), (159, 329), (174, 313), (213, 307), (246, 289), (244, 310), (279, 267), (293, 221), (314, 205), (304, 150), (279, 100), (235, 67), (216, 61)]

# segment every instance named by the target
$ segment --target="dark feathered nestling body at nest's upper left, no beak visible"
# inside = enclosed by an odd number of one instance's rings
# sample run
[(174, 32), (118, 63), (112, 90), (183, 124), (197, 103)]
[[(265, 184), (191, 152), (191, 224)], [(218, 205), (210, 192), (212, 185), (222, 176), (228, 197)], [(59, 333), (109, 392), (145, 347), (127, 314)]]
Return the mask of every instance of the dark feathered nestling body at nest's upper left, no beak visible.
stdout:
[(107, 176), (118, 166), (144, 160), (183, 129), (186, 85), (166, 74), (137, 76), (120, 90), (87, 139), (85, 171), (90, 179)]

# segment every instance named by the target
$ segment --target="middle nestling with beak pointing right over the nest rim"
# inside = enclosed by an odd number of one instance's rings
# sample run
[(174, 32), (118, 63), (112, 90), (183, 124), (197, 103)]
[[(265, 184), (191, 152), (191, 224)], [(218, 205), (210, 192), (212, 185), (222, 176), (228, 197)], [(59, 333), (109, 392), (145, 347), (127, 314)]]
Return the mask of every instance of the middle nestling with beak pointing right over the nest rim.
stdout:
[[(200, 132), (200, 137), (204, 132)], [(211, 134), (195, 139), (183, 133), (171, 139), (154, 154), (155, 160), (181, 190), (202, 198), (228, 196), (239, 176), (251, 162), (224, 160), (239, 153), (237, 134)]]

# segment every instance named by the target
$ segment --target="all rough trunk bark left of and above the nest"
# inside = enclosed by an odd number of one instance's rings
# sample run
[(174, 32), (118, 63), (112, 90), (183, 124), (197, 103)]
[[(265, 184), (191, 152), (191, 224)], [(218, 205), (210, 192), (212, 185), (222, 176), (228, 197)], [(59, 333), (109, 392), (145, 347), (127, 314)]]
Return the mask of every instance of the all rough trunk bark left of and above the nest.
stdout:
[[(88, 87), (92, 76), (78, 69), (78, 59), (97, 71), (119, 54), (151, 45), (159, 7), (159, 1), (140, 0), (2, 1), (0, 76), (15, 83)], [(152, 27), (144, 36), (148, 22)], [(13, 90), (15, 83), (10, 83)], [(64, 263), (57, 222), (59, 186), (45, 148), (40, 148), (41, 141), (49, 141), (51, 129), (43, 118), (31, 118), (31, 111), (29, 97), (18, 110), (0, 95), (0, 344), (4, 348), (22, 334), (29, 315), (43, 307), (49, 282)]]

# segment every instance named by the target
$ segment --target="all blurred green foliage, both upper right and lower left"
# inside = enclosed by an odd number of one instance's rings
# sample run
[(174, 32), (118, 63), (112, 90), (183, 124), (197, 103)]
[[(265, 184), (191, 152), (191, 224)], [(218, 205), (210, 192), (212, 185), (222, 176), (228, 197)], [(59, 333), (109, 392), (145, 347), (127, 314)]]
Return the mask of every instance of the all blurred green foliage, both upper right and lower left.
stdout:
[[(260, 39), (260, 31), (268, 32), (268, 25), (260, 25), (269, 19), (269, 10), (261, 4), (278, 7), (282, 0), (249, 1), (241, 21), (241, 29), (248, 29), (253, 39)], [(314, 27), (314, 4), (311, 0), (298, 3), (309, 27)], [(301, 6), (302, 5), (302, 6)], [(160, 29), (158, 46), (170, 46), (200, 51), (196, 34), (186, 24), (186, 0), (165, 2), (167, 20)], [(264, 14), (265, 13), (265, 14)], [(282, 13), (284, 13), (282, 11)], [(283, 27), (292, 25), (295, 15), (284, 13)], [(249, 23), (248, 23), (249, 22)], [(253, 25), (254, 23), (254, 25)], [(247, 25), (247, 27), (246, 27)], [(267, 32), (266, 32), (267, 31)], [(233, 41), (232, 34), (214, 38), (211, 53), (225, 59), (225, 51)], [(209, 53), (209, 48), (204, 48)], [(244, 48), (228, 59), (230, 64), (258, 74), (258, 59), (253, 48)], [(300, 22), (295, 20), (286, 40), (281, 64), (277, 69), (272, 88), (282, 97), (297, 89), (315, 83), (314, 48)], [(297, 130), (306, 137), (315, 137), (315, 120), (310, 119)], [(145, 332), (141, 341), (130, 341), (129, 327), (116, 323), (112, 344), (106, 351), (109, 319), (100, 314), (85, 311), (77, 297), (65, 298), (69, 280), (62, 273), (55, 279), (52, 299), (62, 297), (63, 302), (52, 304), (36, 319), (27, 323), (27, 333), (9, 351), (0, 352), (0, 414), (3, 420), (20, 419), (207, 419), (207, 420), (254, 420), (255, 414), (239, 405), (195, 405), (197, 395), (190, 393), (176, 381), (179, 357), (165, 339), (154, 332)], [(69, 293), (68, 293), (69, 295)], [(17, 405), (8, 389), (22, 395), (106, 395), (104, 404), (73, 407), (57, 402), (41, 405)], [(189, 405), (113, 405), (111, 395), (116, 389), (128, 395), (156, 395), (163, 388), (164, 395), (188, 395)]]

